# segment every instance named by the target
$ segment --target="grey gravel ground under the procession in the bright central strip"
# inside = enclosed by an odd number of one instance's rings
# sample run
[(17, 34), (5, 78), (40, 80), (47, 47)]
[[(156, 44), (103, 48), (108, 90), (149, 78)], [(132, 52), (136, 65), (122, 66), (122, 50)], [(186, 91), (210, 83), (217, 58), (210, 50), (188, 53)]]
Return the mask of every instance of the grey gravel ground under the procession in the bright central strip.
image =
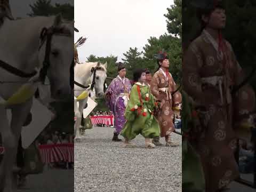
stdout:
[(133, 140), (137, 148), (127, 149), (111, 141), (113, 131), (94, 127), (75, 143), (75, 192), (181, 191), (180, 135), (172, 136), (179, 147), (145, 149), (139, 135)]

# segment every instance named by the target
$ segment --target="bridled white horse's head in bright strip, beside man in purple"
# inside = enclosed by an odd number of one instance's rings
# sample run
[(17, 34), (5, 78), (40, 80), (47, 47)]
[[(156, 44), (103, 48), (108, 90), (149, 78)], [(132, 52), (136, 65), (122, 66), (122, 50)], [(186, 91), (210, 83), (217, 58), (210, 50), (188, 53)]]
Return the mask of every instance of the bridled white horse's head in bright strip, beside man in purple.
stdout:
[(95, 94), (98, 98), (104, 95), (104, 83), (107, 78), (107, 62), (102, 65), (100, 62), (91, 70), (91, 84), (95, 89)]

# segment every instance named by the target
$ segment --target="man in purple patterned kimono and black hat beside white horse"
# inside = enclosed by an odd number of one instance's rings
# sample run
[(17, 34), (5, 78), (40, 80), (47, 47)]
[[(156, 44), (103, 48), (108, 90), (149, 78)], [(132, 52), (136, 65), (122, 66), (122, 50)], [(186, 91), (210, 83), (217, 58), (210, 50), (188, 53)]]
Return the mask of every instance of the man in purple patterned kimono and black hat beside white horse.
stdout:
[(129, 100), (129, 93), (131, 91), (130, 80), (125, 78), (125, 65), (121, 62), (118, 64), (118, 76), (108, 86), (105, 92), (107, 105), (114, 113), (114, 137), (113, 141), (122, 141), (118, 138), (118, 134), (122, 131), (126, 122), (124, 117), (125, 107)]

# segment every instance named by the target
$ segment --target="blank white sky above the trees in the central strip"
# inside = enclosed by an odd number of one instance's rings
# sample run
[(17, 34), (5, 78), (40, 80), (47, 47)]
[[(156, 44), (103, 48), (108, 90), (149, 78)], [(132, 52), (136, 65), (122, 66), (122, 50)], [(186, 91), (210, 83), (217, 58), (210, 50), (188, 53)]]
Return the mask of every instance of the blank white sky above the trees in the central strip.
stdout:
[(75, 42), (88, 38), (78, 47), (79, 60), (113, 54), (121, 61), (130, 47), (142, 51), (150, 36), (167, 33), (164, 14), (171, 4), (173, 0), (75, 0)]

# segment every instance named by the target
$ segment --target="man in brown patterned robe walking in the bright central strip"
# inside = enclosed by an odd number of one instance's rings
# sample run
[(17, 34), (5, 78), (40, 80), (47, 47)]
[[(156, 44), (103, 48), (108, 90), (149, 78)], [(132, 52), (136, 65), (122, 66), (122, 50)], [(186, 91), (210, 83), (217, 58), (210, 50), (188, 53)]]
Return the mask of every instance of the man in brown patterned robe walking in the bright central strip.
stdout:
[[(169, 59), (166, 53), (158, 53), (155, 55), (159, 69), (154, 74), (151, 84), (150, 91), (159, 102), (159, 111), (157, 114), (157, 120), (161, 128), (161, 137), (165, 138), (166, 146), (178, 146), (177, 143), (171, 141), (171, 133), (175, 130), (174, 128), (174, 113), (172, 108), (179, 106), (181, 103), (181, 94), (175, 90), (175, 82), (172, 75), (169, 73)], [(159, 137), (154, 138), (155, 145), (162, 145), (159, 142)]]

